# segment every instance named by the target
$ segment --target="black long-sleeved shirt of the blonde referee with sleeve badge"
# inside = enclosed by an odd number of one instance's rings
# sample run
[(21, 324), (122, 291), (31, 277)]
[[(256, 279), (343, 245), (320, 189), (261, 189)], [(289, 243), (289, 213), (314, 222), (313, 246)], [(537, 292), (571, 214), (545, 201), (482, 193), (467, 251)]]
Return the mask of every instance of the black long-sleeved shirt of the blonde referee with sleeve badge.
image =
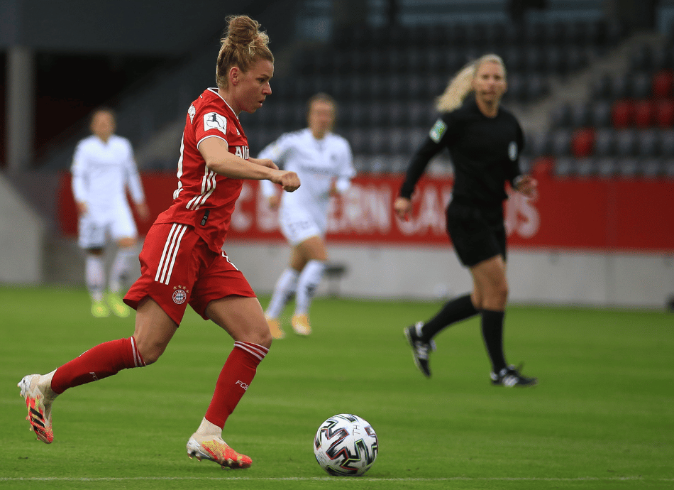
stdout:
[(454, 167), (452, 200), (475, 207), (501, 206), (507, 199), (506, 180), (513, 184), (520, 174), (522, 146), (524, 135), (515, 116), (499, 107), (496, 117), (487, 117), (470, 97), (436, 121), (412, 157), (400, 196), (411, 197), (426, 165), (446, 147)]

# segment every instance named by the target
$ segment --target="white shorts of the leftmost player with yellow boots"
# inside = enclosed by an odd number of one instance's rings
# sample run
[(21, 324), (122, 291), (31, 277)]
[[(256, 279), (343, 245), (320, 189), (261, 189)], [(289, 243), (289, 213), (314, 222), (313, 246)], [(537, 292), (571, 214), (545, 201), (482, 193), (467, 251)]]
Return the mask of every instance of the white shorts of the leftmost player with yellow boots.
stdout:
[(121, 206), (114, 213), (96, 215), (87, 213), (79, 218), (79, 239), (82, 249), (102, 249), (107, 239), (138, 238), (136, 222), (128, 206)]

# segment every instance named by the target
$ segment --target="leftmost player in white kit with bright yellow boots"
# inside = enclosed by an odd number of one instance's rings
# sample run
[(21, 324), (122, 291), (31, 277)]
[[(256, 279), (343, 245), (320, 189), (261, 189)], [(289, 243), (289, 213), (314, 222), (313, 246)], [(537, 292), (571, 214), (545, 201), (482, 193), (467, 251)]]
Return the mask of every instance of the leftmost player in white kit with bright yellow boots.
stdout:
[[(141, 219), (150, 216), (145, 204), (133, 148), (114, 134), (114, 111), (101, 108), (92, 115), (92, 136), (79, 141), (72, 158), (72, 193), (79, 215), (79, 246), (86, 251), (85, 281), (92, 296), (92, 315), (106, 317), (112, 310), (120, 317), (129, 308), (119, 293), (131, 261), (138, 256), (138, 231), (126, 199), (126, 189)], [(108, 291), (105, 291), (104, 249), (108, 238), (117, 243)]]

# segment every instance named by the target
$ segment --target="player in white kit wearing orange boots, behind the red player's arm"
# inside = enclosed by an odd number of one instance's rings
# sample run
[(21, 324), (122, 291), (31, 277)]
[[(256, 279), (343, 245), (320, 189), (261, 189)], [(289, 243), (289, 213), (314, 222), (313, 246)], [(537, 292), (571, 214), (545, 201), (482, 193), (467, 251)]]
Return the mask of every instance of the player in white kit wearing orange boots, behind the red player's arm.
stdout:
[(293, 295), (292, 329), (300, 335), (311, 333), (309, 305), (328, 258), (325, 234), (330, 197), (348, 190), (355, 175), (348, 141), (332, 132), (335, 100), (316, 94), (309, 99), (308, 109), (309, 127), (283, 134), (259, 155), (294, 171), (302, 181), (302, 187), (282, 192), (282, 197), (274, 184), (260, 182), (272, 209), (279, 209), (281, 232), (292, 246), (289, 266), (281, 273), (265, 312), (275, 339), (284, 337), (279, 317)]

